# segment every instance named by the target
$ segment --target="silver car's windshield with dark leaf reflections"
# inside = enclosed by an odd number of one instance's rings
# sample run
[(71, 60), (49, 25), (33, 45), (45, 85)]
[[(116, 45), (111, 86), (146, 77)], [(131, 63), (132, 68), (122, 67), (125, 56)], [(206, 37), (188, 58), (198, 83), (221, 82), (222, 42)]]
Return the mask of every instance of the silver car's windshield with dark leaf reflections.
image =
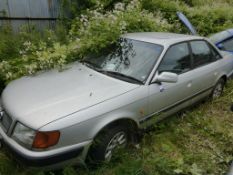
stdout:
[(83, 62), (118, 79), (145, 82), (162, 50), (157, 44), (121, 38), (101, 56), (88, 56)]

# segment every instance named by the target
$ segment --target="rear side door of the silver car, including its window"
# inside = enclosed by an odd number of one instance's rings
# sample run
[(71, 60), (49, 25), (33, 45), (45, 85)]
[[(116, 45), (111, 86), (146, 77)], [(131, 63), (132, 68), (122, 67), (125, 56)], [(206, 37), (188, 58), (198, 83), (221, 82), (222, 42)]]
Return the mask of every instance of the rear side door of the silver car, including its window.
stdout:
[[(218, 78), (218, 60), (221, 55), (205, 40), (190, 42), (193, 59), (192, 94), (196, 100), (206, 96)], [(200, 97), (200, 98), (198, 98)]]

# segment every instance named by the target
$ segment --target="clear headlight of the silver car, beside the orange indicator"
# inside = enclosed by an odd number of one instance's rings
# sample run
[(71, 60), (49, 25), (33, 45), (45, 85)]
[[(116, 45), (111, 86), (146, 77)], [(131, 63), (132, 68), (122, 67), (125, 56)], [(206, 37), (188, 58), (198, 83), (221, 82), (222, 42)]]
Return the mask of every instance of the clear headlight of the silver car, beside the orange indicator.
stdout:
[(18, 122), (15, 126), (12, 138), (24, 146), (31, 148), (35, 135), (36, 132), (34, 130)]

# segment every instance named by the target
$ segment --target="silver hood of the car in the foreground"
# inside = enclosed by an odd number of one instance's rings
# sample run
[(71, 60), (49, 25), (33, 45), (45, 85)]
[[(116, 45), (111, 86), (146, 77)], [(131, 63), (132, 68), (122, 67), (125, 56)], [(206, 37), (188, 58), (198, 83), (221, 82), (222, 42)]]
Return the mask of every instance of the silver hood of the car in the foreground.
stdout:
[(13, 81), (3, 91), (2, 103), (9, 116), (38, 129), (138, 86), (74, 63), (62, 72), (52, 70)]

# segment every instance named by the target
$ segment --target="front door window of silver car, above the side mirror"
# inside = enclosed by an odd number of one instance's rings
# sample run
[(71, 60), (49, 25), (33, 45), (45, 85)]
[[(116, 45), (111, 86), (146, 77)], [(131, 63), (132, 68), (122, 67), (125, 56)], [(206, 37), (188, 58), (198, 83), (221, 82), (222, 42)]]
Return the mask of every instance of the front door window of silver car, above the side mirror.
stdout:
[(191, 57), (187, 43), (170, 47), (159, 65), (158, 71), (181, 74), (191, 69)]

